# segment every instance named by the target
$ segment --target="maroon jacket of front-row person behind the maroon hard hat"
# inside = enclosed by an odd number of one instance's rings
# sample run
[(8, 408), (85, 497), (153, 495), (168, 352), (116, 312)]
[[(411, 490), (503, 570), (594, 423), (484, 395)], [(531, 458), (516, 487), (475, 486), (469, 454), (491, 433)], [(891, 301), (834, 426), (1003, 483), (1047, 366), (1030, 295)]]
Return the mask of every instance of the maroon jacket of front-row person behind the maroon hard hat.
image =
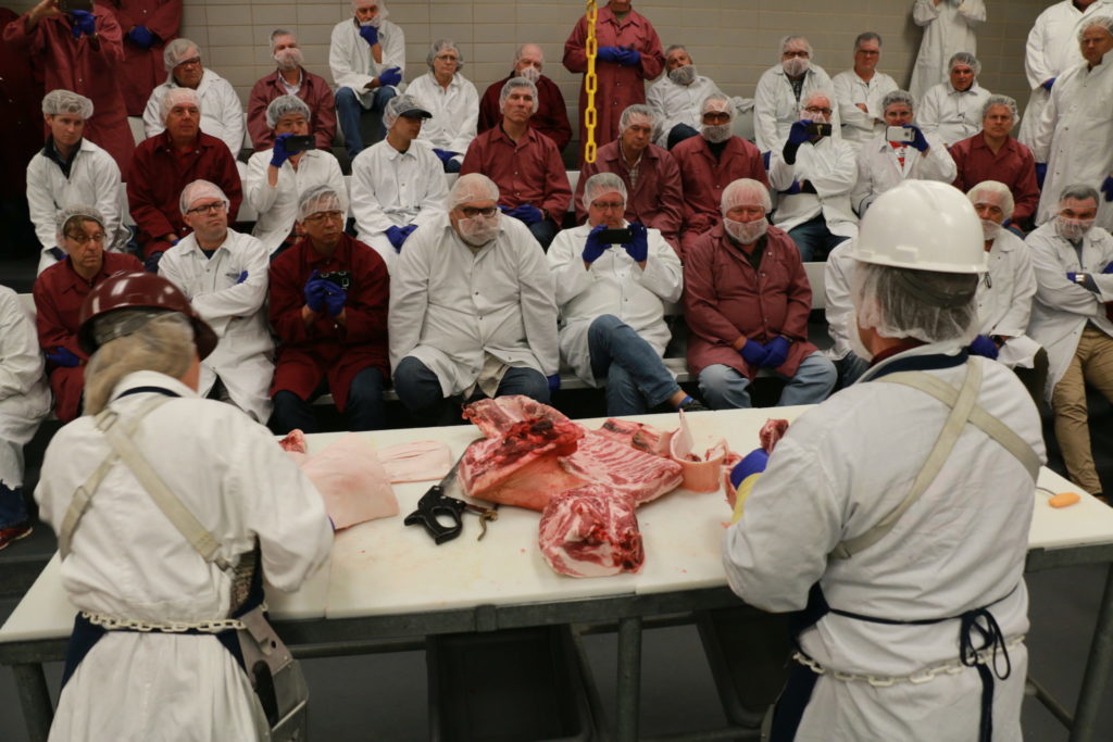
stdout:
[(93, 286), (121, 270), (142, 270), (142, 264), (134, 255), (105, 253), (100, 273), (87, 284), (66, 258), (43, 270), (31, 288), (35, 324), (42, 352), (53, 354), (62, 347), (81, 359), (81, 365), (72, 368), (47, 362), (50, 389), (55, 393), (55, 415), (63, 423), (77, 417), (81, 392), (85, 390), (85, 363), (89, 357), (77, 345), (81, 303)]

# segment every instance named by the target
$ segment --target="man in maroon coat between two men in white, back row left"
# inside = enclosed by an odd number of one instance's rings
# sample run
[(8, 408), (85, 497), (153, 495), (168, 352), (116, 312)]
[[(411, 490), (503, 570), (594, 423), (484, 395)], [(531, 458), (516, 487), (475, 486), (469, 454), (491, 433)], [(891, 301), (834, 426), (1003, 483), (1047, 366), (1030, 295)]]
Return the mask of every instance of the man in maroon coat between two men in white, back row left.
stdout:
[(267, 106), (279, 96), (297, 96), (309, 109), (309, 131), (317, 149), (329, 149), (336, 137), (333, 89), (325, 78), (302, 67), (302, 49), (293, 31), (279, 28), (270, 32), (270, 56), (278, 69), (256, 81), (247, 98), (247, 131), (252, 147), (257, 152), (274, 147), (274, 125), (267, 120)]

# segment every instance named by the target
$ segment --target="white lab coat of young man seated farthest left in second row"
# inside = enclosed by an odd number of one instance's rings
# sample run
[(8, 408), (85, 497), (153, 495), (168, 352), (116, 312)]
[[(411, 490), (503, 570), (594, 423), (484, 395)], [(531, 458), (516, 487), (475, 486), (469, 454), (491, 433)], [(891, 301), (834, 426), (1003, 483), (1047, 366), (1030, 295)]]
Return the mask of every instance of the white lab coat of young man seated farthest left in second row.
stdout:
[(58, 260), (48, 250), (58, 247), (58, 212), (68, 206), (95, 206), (105, 218), (105, 249), (119, 253), (127, 241), (124, 227), (126, 200), (120, 188), (120, 168), (112, 156), (81, 139), (70, 177), (42, 150), (35, 154), (27, 165), (27, 206), (35, 224), (35, 236), (42, 247), (39, 270), (42, 273)]

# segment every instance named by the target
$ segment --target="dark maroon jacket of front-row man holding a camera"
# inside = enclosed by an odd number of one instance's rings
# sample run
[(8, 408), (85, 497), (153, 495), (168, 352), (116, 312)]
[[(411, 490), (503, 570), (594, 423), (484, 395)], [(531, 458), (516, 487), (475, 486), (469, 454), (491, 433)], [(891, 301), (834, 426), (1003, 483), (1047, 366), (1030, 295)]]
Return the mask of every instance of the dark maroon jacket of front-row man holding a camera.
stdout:
[[(341, 325), (322, 313), (306, 327), (302, 319), (305, 284), (314, 270), (349, 270), (352, 285)], [(355, 375), (368, 366), (391, 378), (386, 343), (386, 307), (391, 279), (386, 264), (374, 249), (347, 235), (329, 257), (313, 249), (308, 237), (280, 254), (270, 264), (270, 326), (278, 335), (278, 360), (270, 394), (293, 392), (302, 399), (328, 380), (336, 408), (344, 412)]]

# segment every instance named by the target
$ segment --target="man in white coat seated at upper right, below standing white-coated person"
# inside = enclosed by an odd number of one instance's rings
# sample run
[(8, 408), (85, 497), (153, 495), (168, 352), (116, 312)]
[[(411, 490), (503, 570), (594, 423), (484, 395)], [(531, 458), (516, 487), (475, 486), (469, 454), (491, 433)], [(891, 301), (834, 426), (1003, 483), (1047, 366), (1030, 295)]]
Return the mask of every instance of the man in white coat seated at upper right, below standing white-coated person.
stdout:
[(919, 101), (919, 125), (948, 147), (973, 137), (982, 122), (989, 91), (977, 83), (982, 62), (967, 51), (951, 57), (951, 80), (932, 86)]

